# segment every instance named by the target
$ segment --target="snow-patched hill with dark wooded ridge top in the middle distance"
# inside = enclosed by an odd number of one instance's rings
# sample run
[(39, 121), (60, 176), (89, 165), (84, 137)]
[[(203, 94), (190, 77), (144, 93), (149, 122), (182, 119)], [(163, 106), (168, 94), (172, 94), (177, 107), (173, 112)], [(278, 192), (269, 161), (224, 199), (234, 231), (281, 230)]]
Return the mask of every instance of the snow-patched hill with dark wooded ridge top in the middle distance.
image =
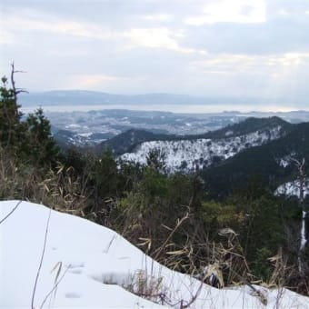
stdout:
[(293, 125), (278, 117), (248, 118), (241, 124), (230, 125), (205, 135), (143, 135), (148, 141), (136, 145), (137, 140), (134, 139), (132, 150), (127, 150), (121, 158), (145, 164), (147, 155), (159, 150), (165, 156), (169, 172), (202, 170), (213, 164), (220, 164), (245, 149), (279, 139), (292, 128)]

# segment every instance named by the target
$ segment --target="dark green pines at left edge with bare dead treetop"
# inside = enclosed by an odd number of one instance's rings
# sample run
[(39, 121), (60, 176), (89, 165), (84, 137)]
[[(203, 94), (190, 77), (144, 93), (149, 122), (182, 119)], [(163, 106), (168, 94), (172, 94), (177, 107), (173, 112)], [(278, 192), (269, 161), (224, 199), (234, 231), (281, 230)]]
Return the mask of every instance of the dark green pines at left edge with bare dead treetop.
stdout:
[(15, 87), (15, 66), (12, 64), (11, 85), (8, 79), (2, 78), (0, 87), (0, 147), (5, 152), (15, 154), (19, 162), (35, 166), (53, 164), (59, 154), (59, 147), (51, 134), (51, 125), (45, 118), (42, 108), (22, 120), (17, 96), (26, 92)]

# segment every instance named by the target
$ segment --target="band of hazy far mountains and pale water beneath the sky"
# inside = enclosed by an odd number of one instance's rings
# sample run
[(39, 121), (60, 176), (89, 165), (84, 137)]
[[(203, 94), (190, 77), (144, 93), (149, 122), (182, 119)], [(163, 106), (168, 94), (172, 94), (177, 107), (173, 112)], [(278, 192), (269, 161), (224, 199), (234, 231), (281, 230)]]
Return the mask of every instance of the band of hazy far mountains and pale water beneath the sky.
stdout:
[[(91, 111), (102, 109), (128, 109), (173, 113), (261, 112), (280, 113), (305, 110), (294, 108), (279, 98), (207, 97), (177, 94), (110, 94), (89, 90), (52, 90), (19, 95), (24, 111), (42, 106), (48, 111)], [(258, 105), (254, 109), (253, 105)]]

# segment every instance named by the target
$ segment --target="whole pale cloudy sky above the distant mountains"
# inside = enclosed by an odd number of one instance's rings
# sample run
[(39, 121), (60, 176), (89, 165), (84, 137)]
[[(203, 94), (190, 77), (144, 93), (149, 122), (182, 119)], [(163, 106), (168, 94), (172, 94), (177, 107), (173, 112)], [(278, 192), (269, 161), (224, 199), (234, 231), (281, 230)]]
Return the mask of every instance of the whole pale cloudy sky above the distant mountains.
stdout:
[(309, 106), (309, 0), (1, 0), (0, 46), (0, 73), (14, 61), (30, 92)]

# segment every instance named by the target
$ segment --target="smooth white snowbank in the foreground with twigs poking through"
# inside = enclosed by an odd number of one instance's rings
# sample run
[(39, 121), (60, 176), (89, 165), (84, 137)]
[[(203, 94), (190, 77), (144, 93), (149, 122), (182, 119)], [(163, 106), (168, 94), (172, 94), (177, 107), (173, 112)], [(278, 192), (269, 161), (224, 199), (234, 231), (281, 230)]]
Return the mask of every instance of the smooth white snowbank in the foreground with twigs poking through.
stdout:
[[(0, 202), (0, 222), (18, 201)], [(49, 224), (48, 218), (50, 216)], [(45, 233), (47, 228), (47, 234)], [(22, 202), (0, 224), (0, 308), (31, 308), (35, 276), (46, 236), (45, 254), (35, 291), (40, 308), (308, 308), (309, 298), (259, 286), (267, 305), (248, 286), (215, 289), (154, 262), (114, 231), (41, 204)], [(61, 266), (61, 269), (60, 269)], [(60, 280), (60, 282), (59, 282)], [(125, 290), (157, 286), (165, 306)]]

